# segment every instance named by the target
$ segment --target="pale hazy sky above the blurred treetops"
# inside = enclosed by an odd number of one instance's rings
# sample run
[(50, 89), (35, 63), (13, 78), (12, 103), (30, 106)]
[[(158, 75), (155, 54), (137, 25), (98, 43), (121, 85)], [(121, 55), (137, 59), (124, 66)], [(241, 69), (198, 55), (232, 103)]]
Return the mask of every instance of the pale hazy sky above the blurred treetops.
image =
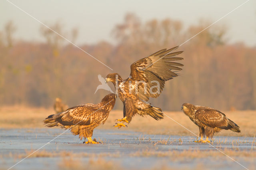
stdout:
[[(79, 29), (76, 43), (97, 43), (101, 40), (114, 42), (111, 31), (124, 20), (128, 12), (136, 14), (141, 22), (152, 19), (171, 18), (180, 20), (184, 27), (197, 24), (200, 19), (219, 20), (246, 0), (9, 0), (34, 18), (51, 26), (57, 21), (65, 32)], [(0, 31), (6, 22), (12, 20), (17, 27), (16, 39), (44, 41), (40, 34), (40, 24), (7, 0), (0, 0)], [(244, 42), (256, 46), (256, 0), (249, 0), (216, 24), (228, 28), (228, 42)], [(67, 35), (68, 36), (68, 35)]]

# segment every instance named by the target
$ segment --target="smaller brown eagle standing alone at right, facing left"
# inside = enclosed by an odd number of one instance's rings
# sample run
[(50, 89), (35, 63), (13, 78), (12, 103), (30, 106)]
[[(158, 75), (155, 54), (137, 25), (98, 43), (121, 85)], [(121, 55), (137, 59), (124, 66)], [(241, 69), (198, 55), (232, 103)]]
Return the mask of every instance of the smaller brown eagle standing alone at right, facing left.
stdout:
[[(195, 142), (210, 142), (208, 137), (212, 138), (214, 133), (222, 129), (230, 129), (233, 132), (241, 132), (239, 126), (228, 119), (226, 115), (216, 109), (205, 106), (194, 106), (190, 103), (184, 103), (181, 107), (185, 115), (199, 127), (200, 140)], [(206, 140), (203, 137), (206, 135)]]

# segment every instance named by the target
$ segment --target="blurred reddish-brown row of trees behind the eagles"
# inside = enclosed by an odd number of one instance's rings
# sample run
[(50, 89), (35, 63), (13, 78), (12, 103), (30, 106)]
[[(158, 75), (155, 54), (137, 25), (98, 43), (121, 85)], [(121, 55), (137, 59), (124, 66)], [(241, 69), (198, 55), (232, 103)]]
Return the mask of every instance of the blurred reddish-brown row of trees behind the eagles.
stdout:
[[(43, 26), (39, 31), (44, 43), (15, 40), (18, 28), (8, 22), (0, 32), (0, 105), (52, 107), (55, 97), (69, 106), (98, 103), (109, 93), (94, 94), (100, 84), (98, 74), (117, 72), (126, 79), (134, 61), (180, 45), (209, 24), (202, 20), (184, 28), (182, 22), (169, 18), (142, 23), (127, 14), (113, 27), (114, 45), (79, 45), (112, 71)], [(77, 28), (67, 31), (59, 22), (50, 27), (76, 43)], [(184, 51), (182, 76), (166, 82), (160, 97), (150, 100), (152, 105), (169, 111), (180, 110), (185, 102), (222, 110), (256, 109), (256, 48), (228, 44), (227, 29), (212, 26), (178, 48)], [(116, 109), (122, 109), (120, 101)]]

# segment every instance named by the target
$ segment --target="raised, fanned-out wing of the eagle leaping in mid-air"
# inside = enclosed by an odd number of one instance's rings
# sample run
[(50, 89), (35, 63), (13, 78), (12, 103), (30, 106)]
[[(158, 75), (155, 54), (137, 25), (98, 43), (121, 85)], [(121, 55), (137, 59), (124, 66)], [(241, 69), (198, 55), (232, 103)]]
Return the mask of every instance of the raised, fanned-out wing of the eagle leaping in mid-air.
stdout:
[[(165, 81), (178, 76), (173, 70), (182, 70), (178, 66), (183, 66), (183, 64), (173, 61), (182, 60), (183, 58), (174, 56), (183, 51), (170, 53), (177, 48), (178, 46), (168, 50), (162, 49), (131, 65), (131, 79), (146, 83), (140, 83), (138, 86), (138, 95), (140, 99), (148, 101), (149, 97), (158, 97), (164, 88)], [(154, 86), (157, 88), (154, 88)]]

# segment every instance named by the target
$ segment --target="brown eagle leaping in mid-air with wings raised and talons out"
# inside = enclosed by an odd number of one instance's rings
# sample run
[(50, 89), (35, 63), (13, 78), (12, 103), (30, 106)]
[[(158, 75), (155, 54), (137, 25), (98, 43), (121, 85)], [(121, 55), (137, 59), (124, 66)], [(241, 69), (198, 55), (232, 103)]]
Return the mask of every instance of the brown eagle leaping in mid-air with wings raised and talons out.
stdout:
[[(118, 73), (110, 73), (106, 76), (106, 82), (110, 81), (114, 84), (116, 93), (124, 105), (124, 118), (118, 121), (129, 123), (136, 114), (150, 115), (156, 120), (164, 118), (160, 108), (143, 101), (148, 101), (149, 97), (158, 97), (165, 81), (178, 76), (173, 70), (182, 70), (178, 66), (183, 65), (173, 61), (182, 60), (183, 58), (174, 56), (183, 51), (170, 53), (177, 48), (178, 46), (168, 50), (162, 49), (132, 63), (130, 76), (125, 80)], [(124, 126), (122, 123), (117, 125)]]

